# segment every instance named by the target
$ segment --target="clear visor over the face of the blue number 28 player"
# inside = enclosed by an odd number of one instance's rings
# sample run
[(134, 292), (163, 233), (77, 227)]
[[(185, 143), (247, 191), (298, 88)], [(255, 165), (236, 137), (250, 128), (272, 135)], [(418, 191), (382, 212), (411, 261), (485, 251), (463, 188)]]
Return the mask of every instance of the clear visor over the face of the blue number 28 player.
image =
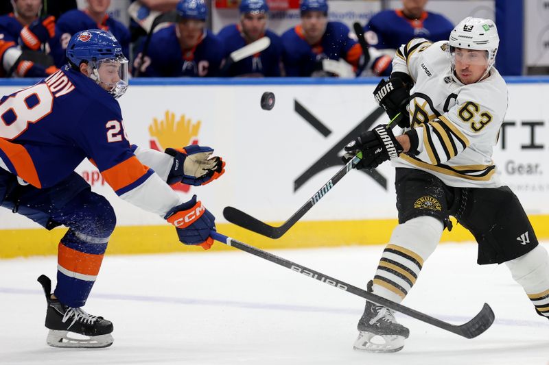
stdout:
[(128, 60), (124, 56), (99, 60), (93, 75), (97, 84), (118, 99), (128, 88)]

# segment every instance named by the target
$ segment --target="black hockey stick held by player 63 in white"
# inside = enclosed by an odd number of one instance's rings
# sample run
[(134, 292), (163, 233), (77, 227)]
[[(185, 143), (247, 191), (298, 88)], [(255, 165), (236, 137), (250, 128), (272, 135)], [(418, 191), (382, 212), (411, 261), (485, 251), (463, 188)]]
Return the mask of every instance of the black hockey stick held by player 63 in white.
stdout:
[[(401, 114), (398, 113), (395, 115), (393, 119), (388, 123), (387, 127), (393, 128), (398, 121), (400, 120)], [(329, 181), (322, 186), (317, 192), (314, 193), (314, 195), (307, 201), (307, 203), (303, 204), (297, 212), (295, 212), (290, 218), (288, 218), (288, 221), (285, 221), (283, 225), (279, 227), (273, 227), (272, 225), (268, 225), (267, 223), (259, 221), (259, 219), (254, 218), (253, 216), (250, 216), (250, 214), (247, 214), (245, 212), (242, 212), (242, 210), (238, 210), (235, 207), (225, 207), (223, 210), (223, 216), (225, 219), (231, 223), (234, 223), (235, 225), (238, 225), (240, 227), (246, 228), (250, 231), (254, 231), (257, 234), (261, 234), (263, 236), (267, 236), (269, 238), (281, 238), (283, 234), (285, 234), (288, 229), (290, 229), (294, 224), (296, 224), (301, 217), (305, 215), (320, 199), (322, 199), (331, 188), (334, 187), (344, 177), (347, 175), (349, 171), (353, 167), (360, 162), (362, 159), (362, 153), (357, 153), (355, 157), (347, 162), (345, 166), (343, 166), (340, 171), (336, 173), (336, 175), (332, 176)]]

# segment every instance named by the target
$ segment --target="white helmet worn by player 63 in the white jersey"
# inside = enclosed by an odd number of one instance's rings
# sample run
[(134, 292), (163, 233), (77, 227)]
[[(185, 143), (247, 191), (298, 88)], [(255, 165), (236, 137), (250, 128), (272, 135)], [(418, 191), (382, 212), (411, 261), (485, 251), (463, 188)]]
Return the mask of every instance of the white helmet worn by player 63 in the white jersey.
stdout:
[(498, 52), (500, 36), (498, 36), (498, 29), (490, 19), (468, 16), (452, 29), (448, 45), (447, 51), (452, 62), (452, 71), (454, 71), (455, 67), (452, 53), (454, 52), (454, 48), (458, 47), (487, 51), (488, 66), (486, 73), (489, 73), (490, 68), (492, 68), (495, 62), (495, 53)]

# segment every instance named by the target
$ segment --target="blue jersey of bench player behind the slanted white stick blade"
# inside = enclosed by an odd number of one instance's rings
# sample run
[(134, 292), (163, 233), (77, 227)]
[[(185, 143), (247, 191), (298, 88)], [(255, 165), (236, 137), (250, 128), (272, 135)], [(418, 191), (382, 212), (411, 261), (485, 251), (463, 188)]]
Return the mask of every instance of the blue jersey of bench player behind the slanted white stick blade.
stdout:
[[(270, 45), (264, 51), (244, 58), (229, 67), (226, 76), (280, 76), (282, 57), (282, 41), (277, 34), (266, 30), (266, 37), (270, 38)], [(240, 25), (227, 25), (220, 30), (218, 38), (224, 46), (224, 58), (229, 58), (231, 52), (241, 49), (247, 43), (240, 29)]]

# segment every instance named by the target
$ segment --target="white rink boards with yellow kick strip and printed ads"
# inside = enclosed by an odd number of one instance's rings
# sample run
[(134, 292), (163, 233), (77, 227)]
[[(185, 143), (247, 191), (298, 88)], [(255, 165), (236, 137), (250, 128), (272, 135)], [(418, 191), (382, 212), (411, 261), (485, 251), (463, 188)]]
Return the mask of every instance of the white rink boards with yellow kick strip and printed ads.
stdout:
[[(509, 78), (509, 110), (494, 149), (497, 173), (521, 199), (539, 238), (549, 238), (549, 78)], [(3, 95), (22, 81), (5, 80)], [(6, 84), (9, 83), (9, 84)], [(148, 79), (132, 81), (119, 99), (130, 142), (163, 150), (198, 143), (226, 160), (225, 175), (203, 187), (181, 187), (213, 212), (218, 230), (264, 248), (386, 242), (396, 225), (393, 168), (351, 171), (279, 240), (226, 223), (231, 205), (261, 221), (288, 219), (342, 166), (342, 147), (361, 127), (386, 123), (372, 97), (376, 79)], [(261, 95), (274, 92), (270, 111)], [(78, 173), (117, 212), (110, 253), (198, 251), (178, 244), (159, 216), (119, 199), (89, 162)], [(56, 253), (65, 229), (51, 232), (0, 210), (0, 257)], [(472, 237), (462, 227), (443, 240)], [(217, 249), (222, 247), (216, 245)]]

